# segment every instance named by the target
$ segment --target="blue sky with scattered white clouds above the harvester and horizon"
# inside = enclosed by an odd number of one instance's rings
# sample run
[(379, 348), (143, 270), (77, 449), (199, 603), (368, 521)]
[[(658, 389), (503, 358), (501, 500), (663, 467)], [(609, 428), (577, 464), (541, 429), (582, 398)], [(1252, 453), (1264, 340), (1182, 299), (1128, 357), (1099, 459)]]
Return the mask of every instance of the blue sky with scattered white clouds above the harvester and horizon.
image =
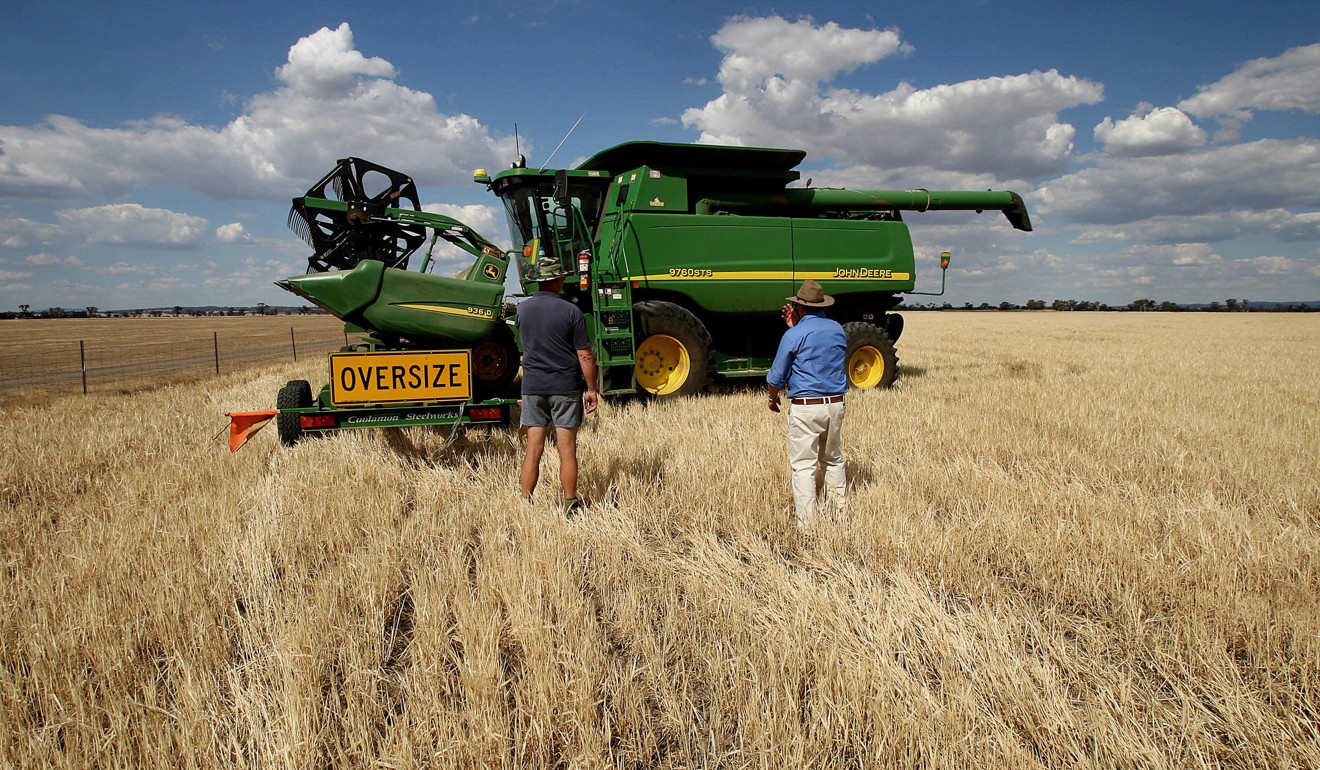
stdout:
[(1035, 232), (907, 217), (958, 305), (1320, 300), (1313, 0), (73, 1), (0, 11), (0, 310), (298, 304), (288, 202), (350, 155), (507, 243), (471, 170), (579, 118), (552, 165), (717, 141), (1020, 193)]

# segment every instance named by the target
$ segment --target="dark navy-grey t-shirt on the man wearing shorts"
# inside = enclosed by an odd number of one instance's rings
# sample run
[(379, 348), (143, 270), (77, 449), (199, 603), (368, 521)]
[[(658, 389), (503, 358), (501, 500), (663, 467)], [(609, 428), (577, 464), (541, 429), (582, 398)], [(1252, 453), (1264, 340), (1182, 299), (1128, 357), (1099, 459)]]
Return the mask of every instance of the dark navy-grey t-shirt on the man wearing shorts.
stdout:
[(523, 395), (582, 390), (577, 351), (591, 343), (577, 305), (554, 292), (536, 292), (517, 306), (517, 332), (523, 337)]

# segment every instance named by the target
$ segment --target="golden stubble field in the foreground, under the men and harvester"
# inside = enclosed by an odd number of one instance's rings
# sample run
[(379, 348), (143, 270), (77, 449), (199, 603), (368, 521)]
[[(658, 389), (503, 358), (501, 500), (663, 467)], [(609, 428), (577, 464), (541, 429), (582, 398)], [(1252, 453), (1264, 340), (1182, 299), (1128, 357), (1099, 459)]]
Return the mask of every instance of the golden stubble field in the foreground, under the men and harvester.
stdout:
[[(792, 524), (758, 387), (230, 454), (323, 362), (4, 407), (4, 767), (1320, 767), (1320, 317), (912, 313)], [(550, 486), (546, 486), (550, 485)]]

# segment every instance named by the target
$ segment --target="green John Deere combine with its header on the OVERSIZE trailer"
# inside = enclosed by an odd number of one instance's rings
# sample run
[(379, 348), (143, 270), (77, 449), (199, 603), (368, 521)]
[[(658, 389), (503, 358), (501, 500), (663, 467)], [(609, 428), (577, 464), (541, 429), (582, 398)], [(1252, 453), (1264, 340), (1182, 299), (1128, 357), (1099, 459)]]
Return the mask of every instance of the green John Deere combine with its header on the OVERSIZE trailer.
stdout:
[[(276, 409), (231, 412), (231, 449), (271, 420), (285, 445), (346, 428), (507, 425), (519, 368), (515, 306), (504, 301), (510, 262), (527, 293), (536, 291), (531, 264), (552, 259), (570, 271), (564, 293), (586, 317), (607, 396), (665, 399), (714, 379), (764, 376), (784, 297), (805, 279), (836, 297), (849, 384), (888, 387), (903, 334), (892, 310), (902, 295), (924, 293), (915, 292), (902, 213), (995, 210), (1030, 231), (1026, 205), (1011, 192), (788, 188), (804, 156), (632, 141), (576, 169), (531, 169), (523, 158), (495, 176), (478, 169), (474, 180), (504, 203), (510, 252), (421, 211), (409, 177), (339, 161), (293, 201), (289, 226), (314, 254), (308, 275), (279, 285), (364, 341), (330, 355), (317, 395), (293, 380)], [(428, 231), (430, 248), (411, 271)], [(432, 275), (438, 239), (469, 252), (471, 267)]]

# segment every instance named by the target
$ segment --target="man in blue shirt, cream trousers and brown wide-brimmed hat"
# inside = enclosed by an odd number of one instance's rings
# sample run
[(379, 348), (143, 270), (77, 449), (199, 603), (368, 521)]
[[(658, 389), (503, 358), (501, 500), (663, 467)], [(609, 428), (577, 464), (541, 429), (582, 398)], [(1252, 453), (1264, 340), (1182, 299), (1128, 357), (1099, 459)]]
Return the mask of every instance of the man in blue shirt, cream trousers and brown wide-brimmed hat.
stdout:
[(816, 472), (825, 469), (825, 493), (836, 518), (847, 503), (843, 474), (843, 391), (847, 374), (843, 357), (847, 335), (837, 321), (825, 317), (834, 304), (821, 285), (803, 281), (784, 305), (788, 332), (779, 341), (775, 363), (766, 375), (770, 411), (779, 411), (779, 392), (788, 390), (788, 464), (793, 470), (793, 507), (799, 531), (816, 519)]

